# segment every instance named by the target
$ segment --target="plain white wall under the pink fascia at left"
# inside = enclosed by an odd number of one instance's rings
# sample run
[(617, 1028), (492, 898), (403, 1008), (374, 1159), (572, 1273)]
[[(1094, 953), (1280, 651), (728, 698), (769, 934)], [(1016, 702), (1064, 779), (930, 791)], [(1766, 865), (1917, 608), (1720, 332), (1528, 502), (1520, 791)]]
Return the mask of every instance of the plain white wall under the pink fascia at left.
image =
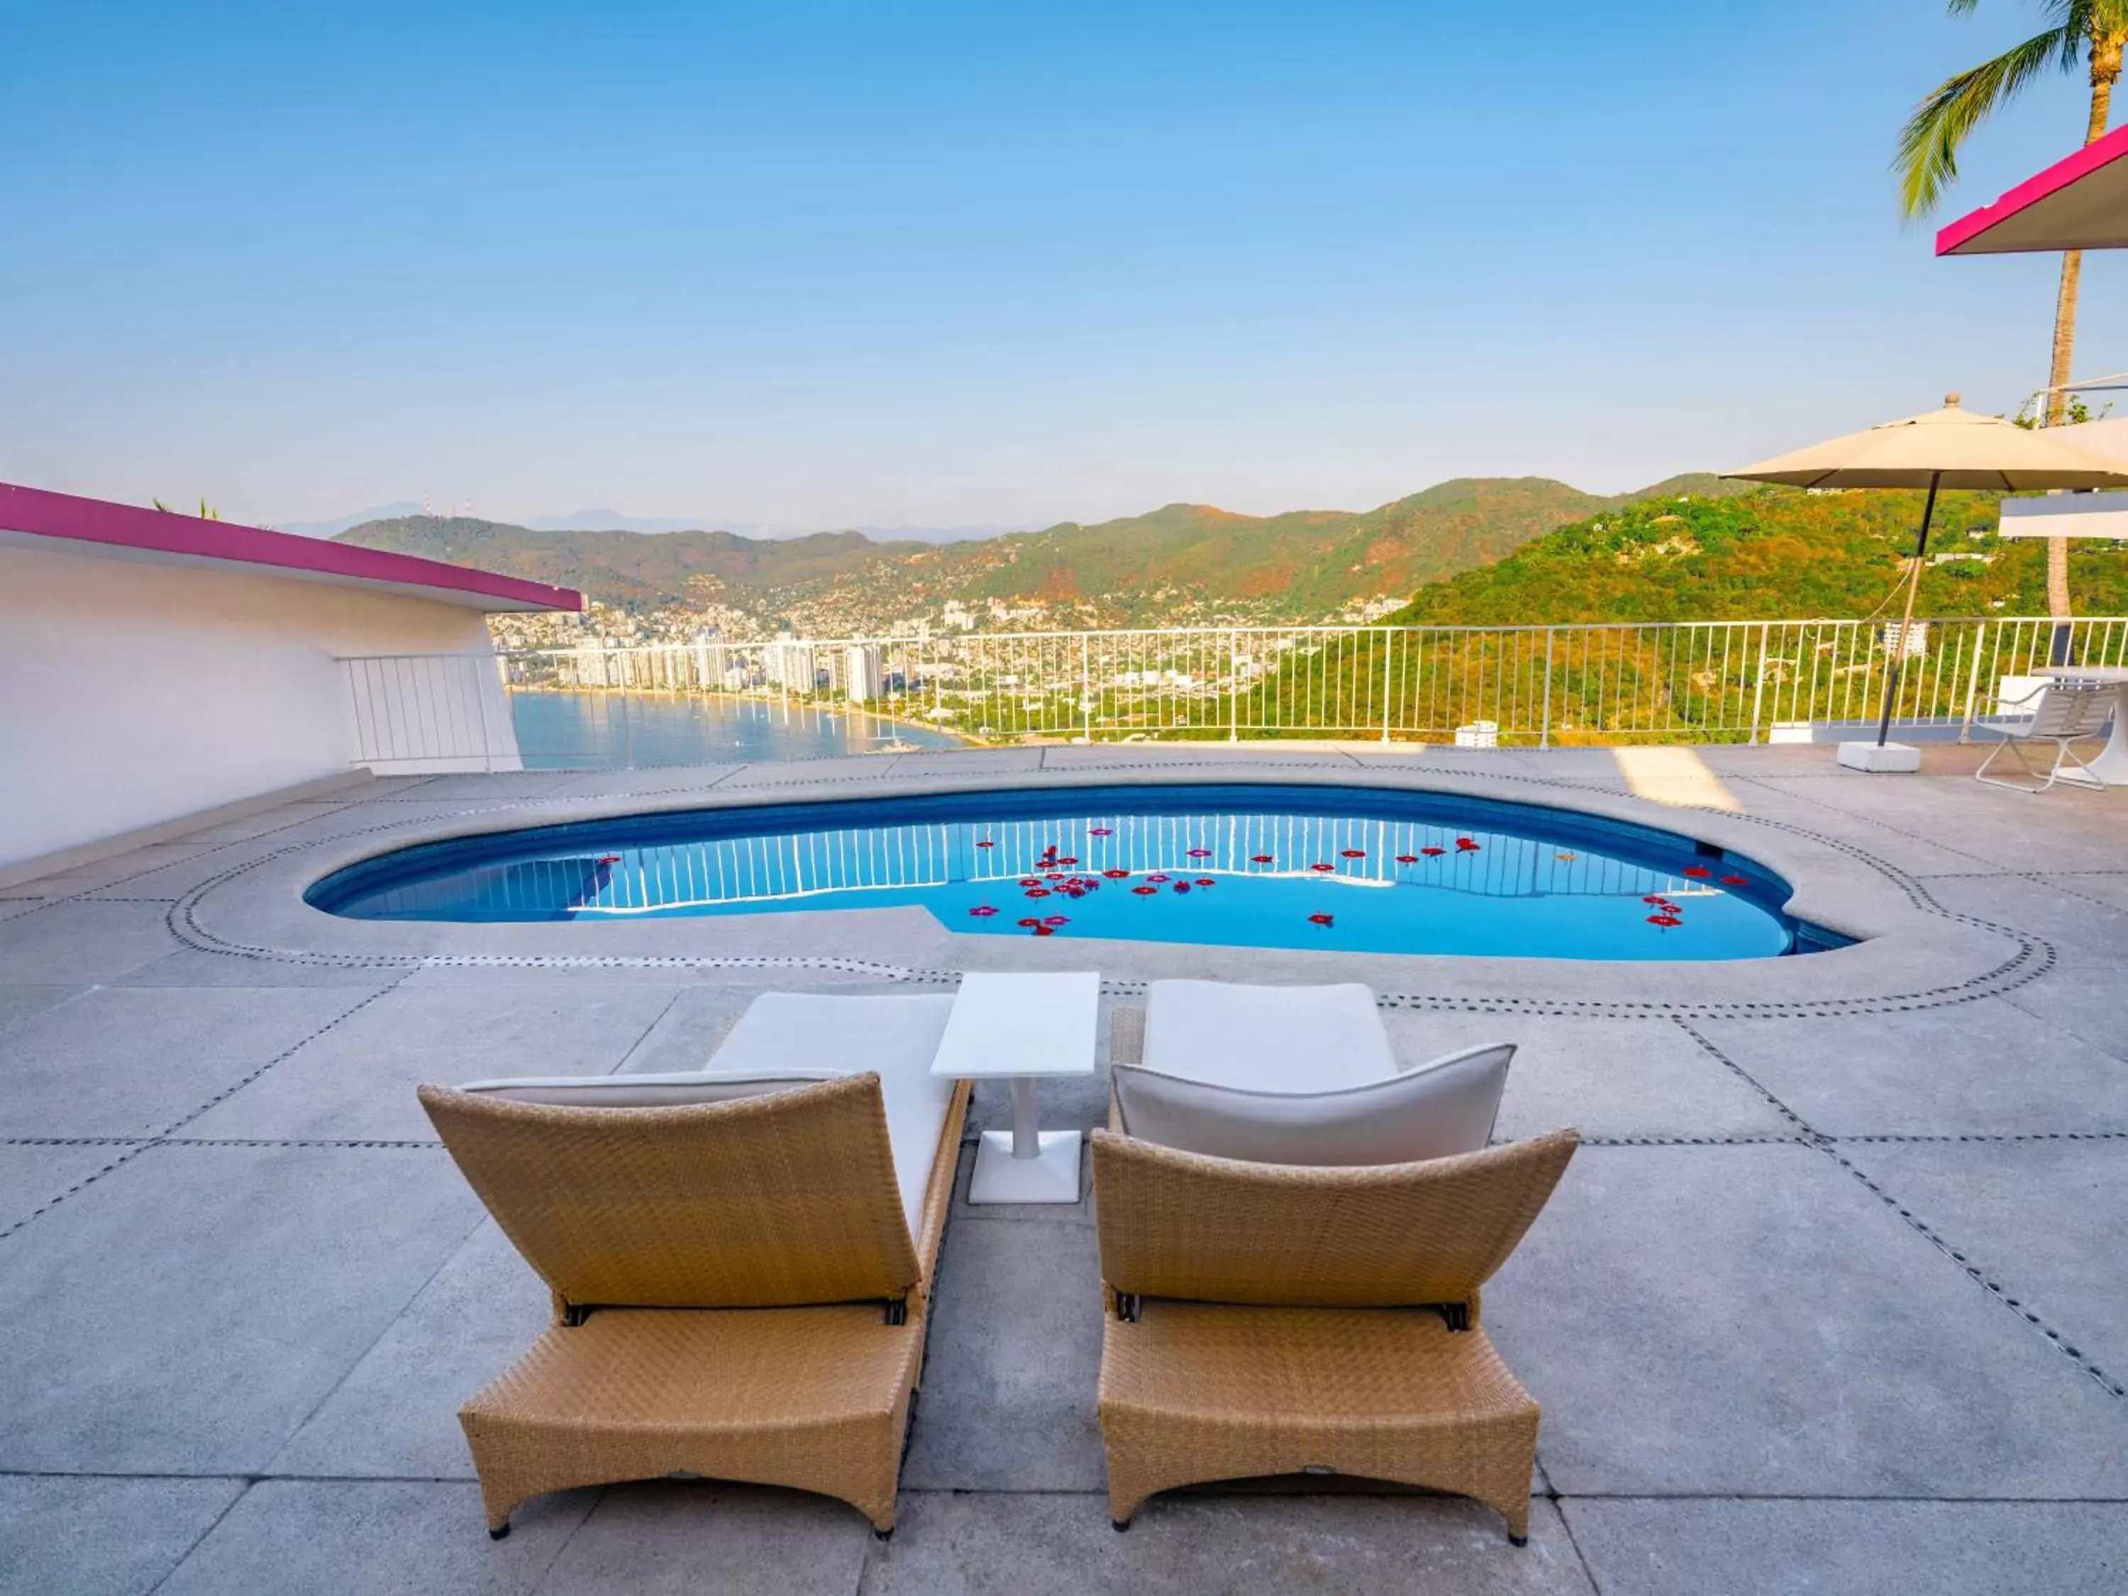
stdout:
[(0, 868), (349, 772), (338, 658), (487, 651), (455, 604), (0, 547)]

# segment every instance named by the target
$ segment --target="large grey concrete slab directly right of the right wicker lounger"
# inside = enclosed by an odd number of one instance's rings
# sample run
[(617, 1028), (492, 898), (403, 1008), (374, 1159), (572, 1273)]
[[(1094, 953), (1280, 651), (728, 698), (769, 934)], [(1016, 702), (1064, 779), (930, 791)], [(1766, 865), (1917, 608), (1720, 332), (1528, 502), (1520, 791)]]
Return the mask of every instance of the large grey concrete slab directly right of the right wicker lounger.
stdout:
[(1568, 1496), (2128, 1490), (2128, 1407), (1807, 1147), (1583, 1147), (1485, 1326)]

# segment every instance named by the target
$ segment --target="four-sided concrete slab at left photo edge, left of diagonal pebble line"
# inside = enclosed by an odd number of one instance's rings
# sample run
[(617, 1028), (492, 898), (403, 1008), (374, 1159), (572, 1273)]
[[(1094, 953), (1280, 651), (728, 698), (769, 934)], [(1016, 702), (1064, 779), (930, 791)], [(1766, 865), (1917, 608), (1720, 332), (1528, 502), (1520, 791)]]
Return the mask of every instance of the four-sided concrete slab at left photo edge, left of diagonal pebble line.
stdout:
[(315, 1036), (360, 996), (85, 992), (0, 1032), (0, 1134), (153, 1136)]

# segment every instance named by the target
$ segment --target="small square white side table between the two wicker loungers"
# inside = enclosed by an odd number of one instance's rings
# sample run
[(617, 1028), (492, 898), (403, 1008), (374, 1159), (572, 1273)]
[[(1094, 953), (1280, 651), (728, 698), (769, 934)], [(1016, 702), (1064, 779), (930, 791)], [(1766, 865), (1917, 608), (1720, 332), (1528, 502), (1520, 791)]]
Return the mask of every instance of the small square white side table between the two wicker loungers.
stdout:
[(975, 1149), (970, 1202), (1077, 1202), (1079, 1132), (1038, 1130), (1034, 1083), (1092, 1075), (1100, 975), (990, 975), (960, 979), (932, 1075), (1013, 1083), (1013, 1128), (985, 1130)]

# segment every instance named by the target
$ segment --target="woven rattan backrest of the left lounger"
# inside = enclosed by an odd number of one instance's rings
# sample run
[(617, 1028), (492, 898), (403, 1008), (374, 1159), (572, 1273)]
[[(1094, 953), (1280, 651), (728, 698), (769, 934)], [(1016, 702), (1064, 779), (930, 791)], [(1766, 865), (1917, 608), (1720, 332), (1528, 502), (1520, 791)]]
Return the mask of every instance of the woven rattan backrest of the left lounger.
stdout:
[(421, 1107), (566, 1304), (796, 1307), (917, 1285), (877, 1075), (681, 1109), (423, 1085)]

